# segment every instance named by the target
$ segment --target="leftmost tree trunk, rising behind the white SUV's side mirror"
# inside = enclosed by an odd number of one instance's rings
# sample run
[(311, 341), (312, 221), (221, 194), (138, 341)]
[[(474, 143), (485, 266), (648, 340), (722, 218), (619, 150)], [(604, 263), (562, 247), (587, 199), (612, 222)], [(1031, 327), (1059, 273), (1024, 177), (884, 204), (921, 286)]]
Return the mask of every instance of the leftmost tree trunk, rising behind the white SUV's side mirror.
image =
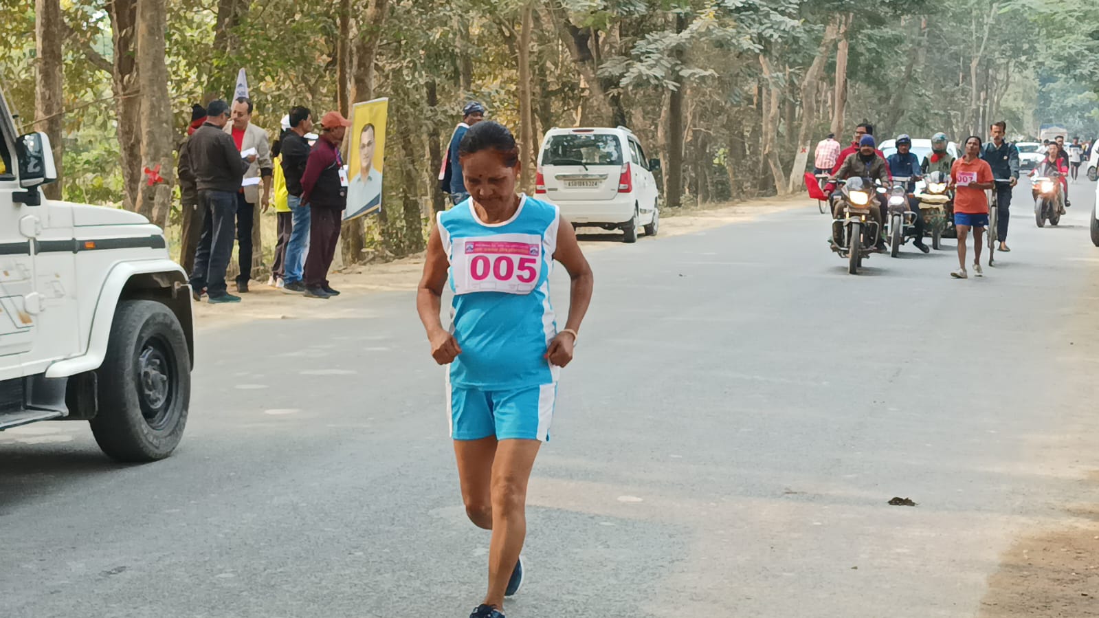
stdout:
[(57, 183), (46, 185), (42, 192), (49, 199), (62, 198), (62, 163), (65, 151), (65, 102), (62, 76), (60, 0), (36, 0), (34, 3), (34, 40), (37, 60), (34, 63), (34, 130), (49, 136), (57, 166)]

